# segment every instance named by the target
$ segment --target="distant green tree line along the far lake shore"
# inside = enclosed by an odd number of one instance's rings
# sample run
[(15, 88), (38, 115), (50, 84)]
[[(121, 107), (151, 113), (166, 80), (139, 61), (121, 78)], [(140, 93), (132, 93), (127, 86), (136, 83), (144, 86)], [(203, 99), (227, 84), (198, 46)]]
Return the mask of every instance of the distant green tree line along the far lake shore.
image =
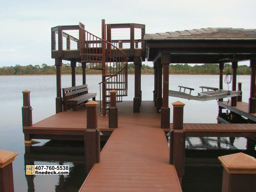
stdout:
[[(230, 64), (224, 65), (223, 73), (227, 74), (232, 72)], [(62, 64), (62, 74), (71, 74), (70, 64)], [(32, 74), (56, 74), (56, 67), (54, 65), (48, 66), (47, 64), (40, 65), (28, 65), (28, 66), (4, 66), (0, 67), (0, 75), (32, 75)], [(76, 67), (76, 74), (82, 74), (82, 65), (78, 63)], [(92, 70), (89, 66), (86, 67), (86, 74), (102, 74), (101, 70)], [(134, 74), (134, 64), (128, 64), (128, 74)], [(154, 74), (154, 68), (145, 64), (141, 67), (141, 74)], [(202, 75), (202, 74), (219, 74), (218, 64), (202, 64), (190, 66), (188, 64), (170, 64), (169, 74), (190, 74), (190, 75)], [(250, 74), (250, 67), (246, 65), (238, 66), (237, 74)]]

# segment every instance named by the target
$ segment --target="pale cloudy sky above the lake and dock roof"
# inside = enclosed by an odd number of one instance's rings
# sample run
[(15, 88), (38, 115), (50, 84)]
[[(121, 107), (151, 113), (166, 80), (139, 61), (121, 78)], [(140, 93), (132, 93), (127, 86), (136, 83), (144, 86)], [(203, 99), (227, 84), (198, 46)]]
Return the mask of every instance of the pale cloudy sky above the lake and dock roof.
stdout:
[[(101, 36), (102, 19), (106, 24), (145, 24), (146, 33), (208, 27), (256, 28), (255, 7), (255, 0), (2, 1), (0, 67), (54, 65), (50, 32), (58, 25), (82, 22), (97, 36)], [(152, 62), (144, 64), (152, 66)]]

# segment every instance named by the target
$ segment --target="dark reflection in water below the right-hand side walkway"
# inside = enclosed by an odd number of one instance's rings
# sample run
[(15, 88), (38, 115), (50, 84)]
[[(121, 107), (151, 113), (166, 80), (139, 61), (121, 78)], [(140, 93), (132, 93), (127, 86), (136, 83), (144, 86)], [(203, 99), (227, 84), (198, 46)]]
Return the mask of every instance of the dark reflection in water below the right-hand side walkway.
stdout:
[(256, 157), (255, 147), (253, 138), (187, 137), (182, 191), (221, 192), (223, 167), (218, 156), (243, 152)]

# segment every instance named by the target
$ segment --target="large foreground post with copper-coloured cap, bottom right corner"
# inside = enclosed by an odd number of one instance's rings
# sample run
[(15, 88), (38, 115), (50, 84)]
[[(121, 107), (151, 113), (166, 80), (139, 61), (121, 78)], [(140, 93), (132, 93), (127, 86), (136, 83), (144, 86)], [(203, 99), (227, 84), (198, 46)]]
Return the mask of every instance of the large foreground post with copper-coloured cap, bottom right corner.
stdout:
[(222, 192), (253, 192), (256, 189), (256, 159), (244, 153), (218, 157), (222, 163)]

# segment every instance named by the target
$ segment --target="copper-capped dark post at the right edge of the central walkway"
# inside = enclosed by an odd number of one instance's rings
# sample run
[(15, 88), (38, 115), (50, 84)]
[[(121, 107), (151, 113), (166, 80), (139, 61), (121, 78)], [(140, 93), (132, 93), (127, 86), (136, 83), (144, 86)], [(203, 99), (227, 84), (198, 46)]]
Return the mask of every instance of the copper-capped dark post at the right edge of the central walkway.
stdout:
[(184, 103), (177, 101), (173, 106), (173, 124), (170, 130), (170, 164), (176, 168), (180, 183), (185, 169), (185, 131), (183, 130)]

